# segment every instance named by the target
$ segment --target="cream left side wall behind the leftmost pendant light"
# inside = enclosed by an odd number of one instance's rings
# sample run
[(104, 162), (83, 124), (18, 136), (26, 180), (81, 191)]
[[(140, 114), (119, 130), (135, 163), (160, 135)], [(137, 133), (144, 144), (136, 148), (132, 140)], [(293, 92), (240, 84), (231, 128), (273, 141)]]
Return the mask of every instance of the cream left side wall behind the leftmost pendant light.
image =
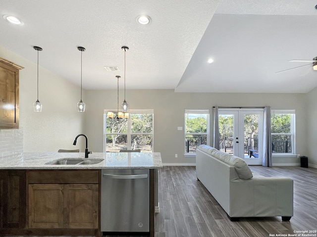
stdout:
[[(36, 58), (36, 51), (33, 51)], [(76, 147), (72, 145), (76, 135), (83, 132), (84, 114), (77, 112), (80, 87), (40, 65), (39, 100), (43, 110), (41, 113), (33, 112), (33, 102), (37, 100), (37, 64), (2, 47), (0, 57), (24, 67), (19, 73), (23, 151), (57, 152), (58, 149), (83, 148), (84, 141), (79, 139)], [(81, 149), (81, 152), (84, 150)]]

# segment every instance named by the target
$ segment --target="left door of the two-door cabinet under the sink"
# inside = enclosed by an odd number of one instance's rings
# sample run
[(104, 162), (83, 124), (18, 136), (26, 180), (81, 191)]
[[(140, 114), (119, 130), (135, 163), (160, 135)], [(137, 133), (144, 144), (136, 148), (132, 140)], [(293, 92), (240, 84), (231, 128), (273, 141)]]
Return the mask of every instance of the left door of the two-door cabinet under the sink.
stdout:
[(29, 184), (29, 228), (63, 228), (63, 184)]

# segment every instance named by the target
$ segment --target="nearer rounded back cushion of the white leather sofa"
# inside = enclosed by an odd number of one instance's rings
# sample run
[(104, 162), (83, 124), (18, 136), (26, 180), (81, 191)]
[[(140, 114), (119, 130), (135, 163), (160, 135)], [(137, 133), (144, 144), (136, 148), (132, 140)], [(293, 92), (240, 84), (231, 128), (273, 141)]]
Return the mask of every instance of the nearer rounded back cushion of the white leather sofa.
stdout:
[(218, 150), (213, 150), (211, 156), (234, 166), (240, 179), (251, 179), (253, 177), (253, 174), (244, 159)]

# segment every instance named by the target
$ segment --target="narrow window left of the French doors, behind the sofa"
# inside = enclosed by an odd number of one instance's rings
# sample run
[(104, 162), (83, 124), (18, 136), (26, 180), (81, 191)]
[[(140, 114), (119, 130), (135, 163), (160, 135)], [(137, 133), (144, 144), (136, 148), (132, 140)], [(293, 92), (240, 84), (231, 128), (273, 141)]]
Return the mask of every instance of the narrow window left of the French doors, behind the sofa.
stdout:
[(185, 110), (185, 155), (201, 144), (209, 145), (209, 110)]

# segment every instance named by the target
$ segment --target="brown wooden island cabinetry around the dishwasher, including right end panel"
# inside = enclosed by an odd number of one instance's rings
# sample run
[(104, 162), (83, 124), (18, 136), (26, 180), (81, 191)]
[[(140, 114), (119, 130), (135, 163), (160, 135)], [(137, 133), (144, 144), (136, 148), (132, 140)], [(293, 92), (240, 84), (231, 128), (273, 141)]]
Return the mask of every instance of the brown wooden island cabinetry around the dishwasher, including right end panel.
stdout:
[[(150, 236), (155, 227), (150, 170)], [(0, 170), (0, 236), (96, 236), (101, 170)]]

